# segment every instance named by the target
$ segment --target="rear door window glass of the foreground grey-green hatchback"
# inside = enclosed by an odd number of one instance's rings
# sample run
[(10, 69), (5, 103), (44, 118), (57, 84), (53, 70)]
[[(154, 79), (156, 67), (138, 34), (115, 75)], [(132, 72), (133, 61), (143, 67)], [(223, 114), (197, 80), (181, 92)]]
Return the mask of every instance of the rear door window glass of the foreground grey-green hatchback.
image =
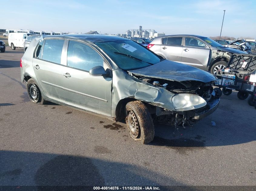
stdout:
[(42, 59), (60, 64), (63, 44), (64, 40), (62, 39), (45, 40)]

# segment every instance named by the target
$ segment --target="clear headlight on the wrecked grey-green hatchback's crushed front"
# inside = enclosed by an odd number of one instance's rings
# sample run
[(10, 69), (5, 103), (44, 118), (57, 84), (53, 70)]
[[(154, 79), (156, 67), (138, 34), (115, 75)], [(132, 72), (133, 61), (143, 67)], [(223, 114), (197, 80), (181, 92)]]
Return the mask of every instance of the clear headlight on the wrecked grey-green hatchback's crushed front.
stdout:
[(194, 110), (206, 105), (206, 101), (196, 94), (175, 94), (171, 102), (176, 111)]

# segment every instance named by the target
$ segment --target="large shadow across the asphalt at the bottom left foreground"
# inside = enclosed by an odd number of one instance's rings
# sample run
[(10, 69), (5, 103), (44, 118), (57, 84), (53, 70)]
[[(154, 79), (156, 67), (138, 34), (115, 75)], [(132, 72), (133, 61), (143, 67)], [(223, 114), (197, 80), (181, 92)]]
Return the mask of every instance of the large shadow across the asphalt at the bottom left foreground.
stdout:
[(42, 186), (184, 185), (147, 169), (147, 166), (98, 158), (0, 151), (0, 159), (0, 188), (6, 185), (37, 186), (34, 190), (49, 190)]

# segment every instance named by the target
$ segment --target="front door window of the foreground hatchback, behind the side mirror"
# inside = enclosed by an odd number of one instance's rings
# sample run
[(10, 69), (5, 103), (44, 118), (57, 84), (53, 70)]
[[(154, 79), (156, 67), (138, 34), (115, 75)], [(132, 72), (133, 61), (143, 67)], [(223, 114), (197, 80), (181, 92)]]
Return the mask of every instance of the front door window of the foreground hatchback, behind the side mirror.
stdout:
[(95, 66), (103, 67), (103, 58), (90, 46), (70, 40), (68, 43), (67, 65), (72, 68), (90, 71)]

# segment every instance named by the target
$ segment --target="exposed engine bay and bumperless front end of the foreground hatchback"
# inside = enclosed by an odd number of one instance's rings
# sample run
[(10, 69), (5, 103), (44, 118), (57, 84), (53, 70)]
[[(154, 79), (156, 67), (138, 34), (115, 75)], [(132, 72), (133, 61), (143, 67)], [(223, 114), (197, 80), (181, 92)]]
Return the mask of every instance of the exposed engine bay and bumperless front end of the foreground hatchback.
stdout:
[[(208, 113), (208, 111), (212, 113), (218, 107), (220, 94), (213, 89), (214, 81), (204, 83), (201, 81), (172, 81), (138, 75), (133, 76), (154, 86), (165, 88), (174, 94), (189, 93), (199, 95), (207, 102), (204, 107), (189, 111), (171, 111), (162, 107), (154, 107), (153, 109), (152, 106), (149, 106), (152, 108), (151, 114), (153, 114), (153, 118), (157, 122), (174, 125), (175, 127), (182, 125), (183, 128), (185, 126), (194, 126), (197, 119), (203, 118), (201, 114)], [(214, 110), (212, 110), (213, 108)]]

